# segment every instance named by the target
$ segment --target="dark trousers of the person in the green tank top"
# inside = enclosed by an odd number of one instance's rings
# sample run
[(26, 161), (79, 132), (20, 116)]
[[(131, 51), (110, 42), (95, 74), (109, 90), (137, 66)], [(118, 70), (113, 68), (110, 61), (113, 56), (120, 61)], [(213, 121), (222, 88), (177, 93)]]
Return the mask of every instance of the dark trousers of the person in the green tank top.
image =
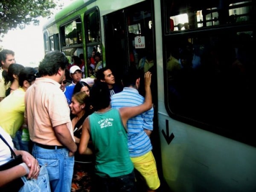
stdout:
[(97, 192), (136, 192), (134, 171), (119, 177), (96, 177)]

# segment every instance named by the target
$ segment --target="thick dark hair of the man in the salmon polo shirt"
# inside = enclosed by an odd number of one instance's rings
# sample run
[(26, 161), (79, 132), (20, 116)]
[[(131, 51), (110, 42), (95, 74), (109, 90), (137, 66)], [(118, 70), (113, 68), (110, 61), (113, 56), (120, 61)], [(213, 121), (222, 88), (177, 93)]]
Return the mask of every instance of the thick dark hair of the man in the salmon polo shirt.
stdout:
[(58, 73), (59, 68), (65, 70), (69, 64), (67, 57), (60, 51), (48, 52), (40, 62), (38, 71), (40, 76), (53, 76)]

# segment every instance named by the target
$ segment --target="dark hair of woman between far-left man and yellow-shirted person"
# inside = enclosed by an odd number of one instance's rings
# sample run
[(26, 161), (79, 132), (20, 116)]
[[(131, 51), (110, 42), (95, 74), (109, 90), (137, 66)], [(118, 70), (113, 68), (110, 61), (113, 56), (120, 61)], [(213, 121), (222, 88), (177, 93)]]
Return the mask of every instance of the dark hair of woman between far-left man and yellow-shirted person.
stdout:
[(8, 72), (6, 70), (3, 71), (3, 78), (5, 85), (11, 81), (11, 83), (14, 81), (13, 75), (19, 76), (20, 71), (24, 69), (24, 66), (21, 64), (10, 64), (8, 68)]

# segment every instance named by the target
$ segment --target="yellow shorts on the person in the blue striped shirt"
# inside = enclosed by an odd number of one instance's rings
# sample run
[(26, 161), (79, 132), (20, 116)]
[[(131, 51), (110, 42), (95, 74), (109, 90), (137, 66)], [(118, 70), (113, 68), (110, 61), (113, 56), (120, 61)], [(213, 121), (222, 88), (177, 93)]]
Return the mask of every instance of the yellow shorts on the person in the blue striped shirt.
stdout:
[(157, 189), (160, 180), (157, 174), (157, 164), (152, 151), (140, 157), (131, 157), (134, 168), (145, 178), (149, 189)]

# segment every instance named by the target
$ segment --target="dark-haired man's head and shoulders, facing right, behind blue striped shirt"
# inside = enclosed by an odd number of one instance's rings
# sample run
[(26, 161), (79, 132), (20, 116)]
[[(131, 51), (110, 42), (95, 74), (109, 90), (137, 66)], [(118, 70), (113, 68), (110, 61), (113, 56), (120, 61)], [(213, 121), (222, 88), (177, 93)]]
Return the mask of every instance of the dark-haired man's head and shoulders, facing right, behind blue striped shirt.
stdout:
[(116, 84), (115, 77), (108, 67), (104, 67), (96, 73), (96, 80), (106, 82), (108, 84), (108, 89), (111, 96), (122, 91), (123, 87)]

